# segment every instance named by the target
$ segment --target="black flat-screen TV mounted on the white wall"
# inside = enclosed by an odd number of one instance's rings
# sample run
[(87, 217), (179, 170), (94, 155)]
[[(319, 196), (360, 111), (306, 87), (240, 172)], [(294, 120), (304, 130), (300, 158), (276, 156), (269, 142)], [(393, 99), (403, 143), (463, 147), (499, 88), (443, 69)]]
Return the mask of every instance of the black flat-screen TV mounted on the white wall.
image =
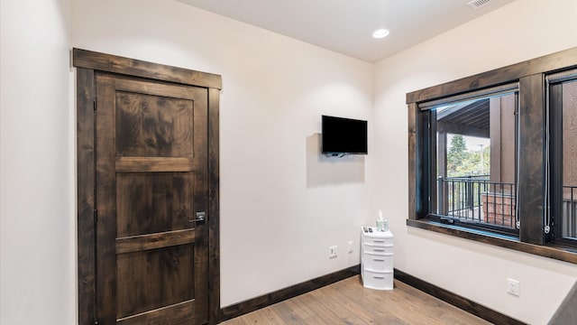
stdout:
[(367, 154), (367, 121), (322, 116), (321, 152)]

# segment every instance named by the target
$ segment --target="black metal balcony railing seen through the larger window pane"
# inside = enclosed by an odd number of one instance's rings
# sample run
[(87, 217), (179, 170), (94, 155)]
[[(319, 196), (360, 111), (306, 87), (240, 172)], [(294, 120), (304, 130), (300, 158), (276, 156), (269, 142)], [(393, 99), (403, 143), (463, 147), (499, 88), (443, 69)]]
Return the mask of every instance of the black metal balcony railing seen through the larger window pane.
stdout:
[(439, 177), (438, 213), (464, 222), (516, 227), (515, 184), (490, 181), (489, 175)]

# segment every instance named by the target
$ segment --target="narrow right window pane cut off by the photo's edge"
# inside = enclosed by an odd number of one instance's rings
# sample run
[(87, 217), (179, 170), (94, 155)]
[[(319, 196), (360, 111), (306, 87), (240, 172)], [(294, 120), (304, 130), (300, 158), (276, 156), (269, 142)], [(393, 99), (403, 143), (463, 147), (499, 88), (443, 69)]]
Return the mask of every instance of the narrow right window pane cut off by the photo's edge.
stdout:
[(577, 70), (547, 76), (549, 123), (545, 227), (552, 239), (577, 243)]

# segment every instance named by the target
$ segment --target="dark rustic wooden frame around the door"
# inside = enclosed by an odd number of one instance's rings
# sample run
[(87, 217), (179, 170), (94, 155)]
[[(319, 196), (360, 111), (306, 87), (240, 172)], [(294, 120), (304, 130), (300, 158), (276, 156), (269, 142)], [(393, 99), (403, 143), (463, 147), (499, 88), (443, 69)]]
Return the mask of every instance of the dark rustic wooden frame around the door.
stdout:
[(222, 78), (196, 70), (134, 60), (115, 55), (72, 50), (76, 67), (78, 181), (78, 323), (95, 324), (96, 315), (96, 146), (97, 71), (154, 79), (208, 89), (208, 317), (220, 315), (219, 231), (219, 95)]

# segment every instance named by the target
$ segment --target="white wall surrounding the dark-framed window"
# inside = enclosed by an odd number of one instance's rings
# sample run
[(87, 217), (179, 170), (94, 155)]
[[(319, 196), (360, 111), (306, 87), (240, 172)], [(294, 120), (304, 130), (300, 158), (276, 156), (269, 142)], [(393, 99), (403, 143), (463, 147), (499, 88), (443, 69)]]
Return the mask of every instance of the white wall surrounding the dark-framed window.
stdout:
[[(544, 324), (577, 279), (577, 266), (408, 228), (406, 93), (577, 46), (577, 1), (523, 0), (376, 64), (374, 176), (396, 235), (395, 266), (493, 310)], [(402, 123), (399, 123), (402, 122)], [(395, 153), (395, 159), (390, 159)], [(506, 278), (520, 297), (505, 292)]]

